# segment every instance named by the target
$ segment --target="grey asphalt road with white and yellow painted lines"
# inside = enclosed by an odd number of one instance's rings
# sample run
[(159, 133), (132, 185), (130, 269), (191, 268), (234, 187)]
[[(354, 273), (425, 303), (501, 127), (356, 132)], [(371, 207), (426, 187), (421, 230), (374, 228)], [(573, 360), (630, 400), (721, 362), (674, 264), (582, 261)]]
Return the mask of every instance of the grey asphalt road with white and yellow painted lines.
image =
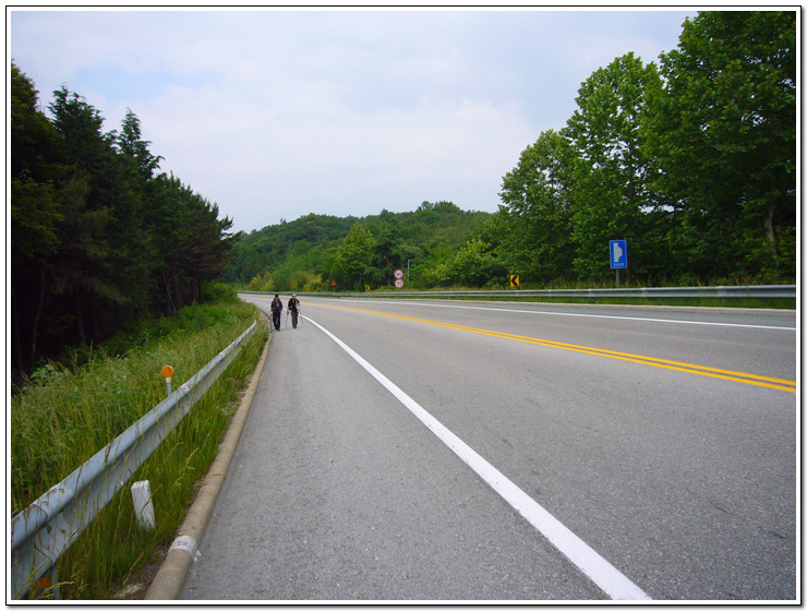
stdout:
[(183, 599), (796, 599), (793, 313), (301, 300)]

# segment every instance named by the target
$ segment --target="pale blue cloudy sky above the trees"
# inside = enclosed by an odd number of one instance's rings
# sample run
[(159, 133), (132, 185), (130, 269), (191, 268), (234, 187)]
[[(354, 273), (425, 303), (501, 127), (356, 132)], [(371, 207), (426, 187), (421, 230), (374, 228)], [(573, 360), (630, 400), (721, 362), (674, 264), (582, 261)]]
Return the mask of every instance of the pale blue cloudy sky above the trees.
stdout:
[[(233, 231), (454, 202), (495, 212), (583, 81), (674, 49), (680, 9), (8, 9), (7, 62), (65, 86)], [(8, 74), (8, 72), (7, 72)], [(8, 95), (8, 93), (7, 93)]]

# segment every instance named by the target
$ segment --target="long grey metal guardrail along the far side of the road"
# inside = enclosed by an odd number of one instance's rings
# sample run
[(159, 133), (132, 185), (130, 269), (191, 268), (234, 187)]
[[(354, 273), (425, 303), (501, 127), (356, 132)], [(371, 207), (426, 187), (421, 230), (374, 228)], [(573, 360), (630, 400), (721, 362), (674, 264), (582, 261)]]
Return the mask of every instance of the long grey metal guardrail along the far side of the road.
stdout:
[[(265, 291), (239, 291), (243, 295), (267, 295)], [(796, 285), (659, 287), (659, 288), (583, 288), (583, 289), (511, 289), (511, 290), (429, 290), (388, 292), (306, 292), (318, 297), (408, 297), (408, 298), (502, 298), (502, 297), (574, 297), (597, 300), (603, 297), (626, 299), (796, 299)]]

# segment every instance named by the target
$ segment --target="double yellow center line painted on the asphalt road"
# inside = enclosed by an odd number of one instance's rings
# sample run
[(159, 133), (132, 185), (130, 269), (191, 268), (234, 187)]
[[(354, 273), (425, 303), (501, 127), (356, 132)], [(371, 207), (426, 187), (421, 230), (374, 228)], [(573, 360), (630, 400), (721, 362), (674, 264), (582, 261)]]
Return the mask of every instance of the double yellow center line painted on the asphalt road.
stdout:
[(429, 324), (433, 326), (442, 326), (445, 328), (454, 328), (457, 331), (465, 331), (468, 333), (478, 333), (480, 335), (490, 335), (492, 337), (501, 337), (503, 339), (514, 339), (516, 342), (523, 342), (526, 344), (535, 344), (538, 346), (546, 346), (550, 348), (559, 348), (562, 350), (571, 350), (575, 352), (581, 352), (585, 355), (594, 355), (599, 357), (606, 357), (610, 359), (618, 359), (628, 362), (636, 362), (641, 364), (648, 364), (651, 367), (661, 367), (664, 369), (671, 369), (673, 371), (683, 371), (686, 373), (695, 373), (697, 375), (707, 375), (709, 378), (718, 378), (720, 380), (730, 380), (732, 382), (742, 382), (744, 384), (754, 384), (756, 386), (766, 386), (768, 388), (775, 388), (778, 391), (786, 391), (788, 393), (796, 392), (796, 383), (792, 380), (780, 380), (778, 378), (768, 378), (764, 375), (756, 375), (754, 373), (743, 373), (739, 371), (730, 371), (725, 369), (715, 369), (712, 367), (703, 367), (699, 364), (685, 363), (679, 361), (671, 361), (666, 359), (658, 359), (655, 357), (646, 357), (642, 355), (633, 355), (630, 352), (619, 352), (616, 350), (605, 350), (603, 348), (592, 348), (590, 346), (580, 346), (577, 344), (565, 344), (563, 342), (552, 342), (550, 339), (540, 339), (538, 337), (527, 337), (525, 335), (515, 335), (511, 333), (502, 333), (498, 331), (489, 331), (485, 328), (475, 328), (472, 326), (462, 326), (451, 323), (442, 323), (438, 321), (430, 321), (426, 319), (414, 319), (412, 316), (402, 316), (400, 314), (389, 314), (387, 312), (377, 312), (374, 310), (362, 310), (359, 308), (348, 308), (345, 306), (323, 306), (320, 303), (315, 304), (318, 308), (333, 308), (337, 310), (352, 310), (354, 312), (363, 312), (368, 314), (376, 314), (378, 316), (388, 316), (390, 319), (400, 319), (402, 321), (411, 321), (415, 323)]

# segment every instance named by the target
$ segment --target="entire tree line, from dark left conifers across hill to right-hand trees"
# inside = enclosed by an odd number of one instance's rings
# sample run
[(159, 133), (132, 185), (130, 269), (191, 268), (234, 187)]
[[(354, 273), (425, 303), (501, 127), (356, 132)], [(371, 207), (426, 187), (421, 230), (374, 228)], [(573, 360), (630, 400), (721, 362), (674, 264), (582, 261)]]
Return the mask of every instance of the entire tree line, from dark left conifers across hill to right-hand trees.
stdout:
[[(503, 177), (496, 213), (423, 202), (365, 218), (303, 216), (232, 236), (130, 110), (120, 132), (67, 87), (48, 118), (11, 67), (11, 369), (97, 344), (203, 298), (260, 290), (606, 283), (792, 283), (796, 275), (796, 14), (701, 12), (659, 63), (594, 71), (561, 130)], [(336, 285), (336, 286), (334, 286)]]

